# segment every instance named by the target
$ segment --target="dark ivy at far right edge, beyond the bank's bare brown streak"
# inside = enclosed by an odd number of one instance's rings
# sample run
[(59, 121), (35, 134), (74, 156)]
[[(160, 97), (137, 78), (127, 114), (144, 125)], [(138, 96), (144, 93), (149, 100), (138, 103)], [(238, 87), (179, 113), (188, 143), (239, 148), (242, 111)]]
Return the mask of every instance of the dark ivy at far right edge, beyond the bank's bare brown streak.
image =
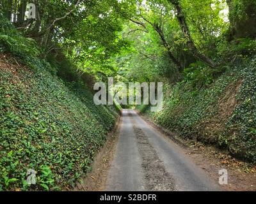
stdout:
[[(227, 122), (227, 129), (220, 135), (220, 144), (228, 147), (232, 154), (249, 161), (256, 161), (256, 59), (246, 60), (237, 69), (243, 85), (237, 93), (239, 105)], [(238, 70), (236, 71), (238, 72)]]

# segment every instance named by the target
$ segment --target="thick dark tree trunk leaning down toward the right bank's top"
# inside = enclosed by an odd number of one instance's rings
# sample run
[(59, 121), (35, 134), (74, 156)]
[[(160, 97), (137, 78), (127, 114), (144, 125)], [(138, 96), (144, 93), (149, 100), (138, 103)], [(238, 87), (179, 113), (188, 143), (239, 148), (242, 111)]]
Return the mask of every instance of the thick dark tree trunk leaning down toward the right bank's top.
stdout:
[(182, 33), (184, 34), (184, 37), (187, 39), (187, 45), (188, 45), (189, 50), (191, 50), (192, 54), (197, 59), (200, 59), (201, 61), (205, 62), (206, 64), (211, 66), (211, 68), (215, 68), (216, 64), (214, 63), (214, 61), (212, 61), (206, 55), (200, 53), (198, 51), (198, 49), (196, 48), (195, 43), (193, 42), (193, 39), (192, 39), (190, 31), (189, 31), (189, 27), (186, 23), (186, 18), (183, 13), (183, 10), (180, 6), (179, 0), (169, 0), (169, 1), (170, 1), (170, 3), (173, 4), (175, 9), (177, 10), (177, 19), (179, 21), (180, 28), (182, 29)]

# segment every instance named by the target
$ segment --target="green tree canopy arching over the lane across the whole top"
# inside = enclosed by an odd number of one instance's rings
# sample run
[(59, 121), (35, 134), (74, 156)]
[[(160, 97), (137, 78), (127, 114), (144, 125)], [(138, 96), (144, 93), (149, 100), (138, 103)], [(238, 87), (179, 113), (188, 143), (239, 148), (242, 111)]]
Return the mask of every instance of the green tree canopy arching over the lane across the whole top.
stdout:
[(1, 13), (45, 55), (63, 50), (96, 78), (179, 81), (191, 64), (220, 69), (223, 47), (256, 36), (253, 0), (32, 2), (35, 19), (26, 18), (27, 0), (1, 0)]

